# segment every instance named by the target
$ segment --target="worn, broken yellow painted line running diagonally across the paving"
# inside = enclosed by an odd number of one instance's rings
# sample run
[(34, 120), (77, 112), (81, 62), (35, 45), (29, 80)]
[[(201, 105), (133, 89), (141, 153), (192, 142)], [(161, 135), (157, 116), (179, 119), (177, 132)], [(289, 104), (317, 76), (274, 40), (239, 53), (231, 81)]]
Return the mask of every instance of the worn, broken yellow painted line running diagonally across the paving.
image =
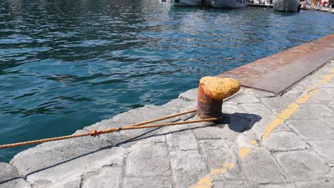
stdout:
[[(334, 70), (331, 70), (331, 74), (325, 75), (325, 78), (321, 80), (316, 85), (308, 88), (304, 91), (303, 95), (300, 95), (300, 97), (296, 100), (295, 103), (291, 103), (288, 105), (288, 108), (283, 110), (280, 115), (278, 115), (277, 118), (275, 118), (273, 121), (269, 123), (267, 127), (265, 127), (265, 132), (262, 135), (262, 141), (268, 138), (273, 130), (277, 128), (280, 125), (283, 125), (283, 123), (288, 120), (288, 118), (291, 117), (291, 115), (298, 112), (300, 109), (300, 105), (303, 103), (306, 103), (310, 98), (315, 95), (315, 93), (318, 93), (320, 90), (317, 89), (317, 86), (325, 85), (325, 83), (328, 83), (330, 80), (334, 78)], [(251, 140), (251, 145), (255, 145), (258, 141), (257, 140)], [(258, 147), (258, 150), (260, 148)], [(252, 151), (252, 148), (250, 147), (242, 147), (239, 149), (239, 156), (241, 159), (246, 158)], [(222, 164), (222, 168), (213, 169), (210, 174), (207, 174), (205, 177), (200, 179), (196, 185), (192, 186), (191, 188), (210, 188), (213, 187), (213, 182), (218, 179), (219, 176), (226, 174), (228, 171), (236, 167), (235, 163), (224, 163)]]

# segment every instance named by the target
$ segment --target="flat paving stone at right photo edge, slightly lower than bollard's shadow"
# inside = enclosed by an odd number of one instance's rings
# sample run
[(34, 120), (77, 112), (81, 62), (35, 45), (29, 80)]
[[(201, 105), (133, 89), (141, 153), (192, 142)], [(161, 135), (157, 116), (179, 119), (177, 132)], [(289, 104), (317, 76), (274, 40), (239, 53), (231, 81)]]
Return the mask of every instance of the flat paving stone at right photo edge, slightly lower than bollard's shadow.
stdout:
[(334, 130), (320, 120), (288, 120), (286, 123), (304, 140), (334, 139)]

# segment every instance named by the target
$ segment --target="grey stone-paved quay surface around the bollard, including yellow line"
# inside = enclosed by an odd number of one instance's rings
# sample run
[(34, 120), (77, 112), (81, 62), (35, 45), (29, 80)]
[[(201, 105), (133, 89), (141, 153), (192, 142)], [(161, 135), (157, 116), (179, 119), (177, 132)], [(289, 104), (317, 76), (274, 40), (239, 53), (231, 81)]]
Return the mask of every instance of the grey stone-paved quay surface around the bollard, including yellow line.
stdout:
[[(196, 100), (188, 90), (77, 133), (193, 109)], [(218, 123), (44, 143), (0, 163), (0, 187), (334, 187), (334, 61), (282, 96), (241, 88), (223, 113)]]

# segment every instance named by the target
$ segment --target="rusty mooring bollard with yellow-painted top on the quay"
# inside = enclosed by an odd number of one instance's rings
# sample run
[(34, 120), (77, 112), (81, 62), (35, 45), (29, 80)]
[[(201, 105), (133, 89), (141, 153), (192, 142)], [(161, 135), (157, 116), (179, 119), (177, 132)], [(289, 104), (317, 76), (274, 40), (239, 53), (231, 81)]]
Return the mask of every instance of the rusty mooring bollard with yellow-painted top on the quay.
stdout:
[(239, 81), (233, 78), (201, 78), (198, 86), (197, 116), (202, 119), (221, 117), (223, 99), (237, 93), (239, 89)]

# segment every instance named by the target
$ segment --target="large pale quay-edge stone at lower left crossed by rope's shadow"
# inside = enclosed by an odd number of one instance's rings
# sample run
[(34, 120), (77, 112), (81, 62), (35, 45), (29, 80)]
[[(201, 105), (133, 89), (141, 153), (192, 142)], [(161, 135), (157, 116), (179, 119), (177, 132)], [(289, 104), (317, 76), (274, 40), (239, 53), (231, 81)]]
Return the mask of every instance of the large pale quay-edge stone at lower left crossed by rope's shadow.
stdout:
[[(103, 165), (123, 162), (123, 149), (110, 147), (98, 137), (47, 142), (16, 155), (11, 164), (27, 181), (50, 184), (79, 176)], [(76, 168), (73, 168), (76, 167)]]

